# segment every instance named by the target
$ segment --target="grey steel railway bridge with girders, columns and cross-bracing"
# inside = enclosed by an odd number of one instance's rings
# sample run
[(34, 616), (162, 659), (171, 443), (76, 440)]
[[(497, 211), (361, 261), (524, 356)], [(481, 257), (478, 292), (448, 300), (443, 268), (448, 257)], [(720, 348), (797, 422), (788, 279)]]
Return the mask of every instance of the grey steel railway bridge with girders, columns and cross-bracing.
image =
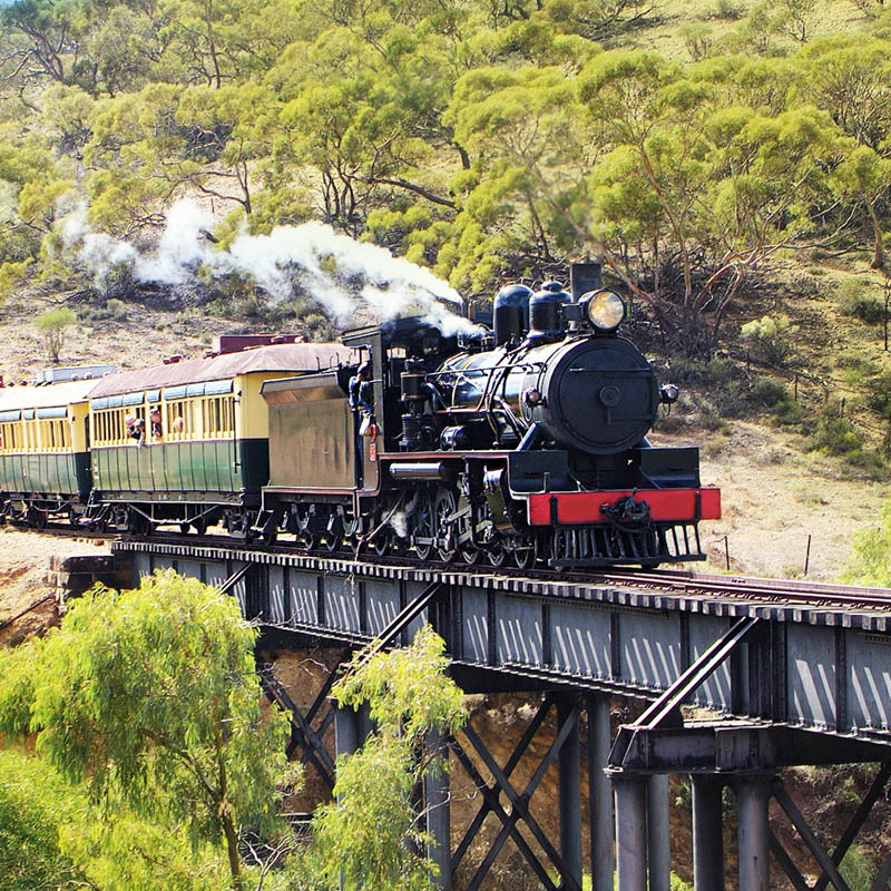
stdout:
[[(544, 888), (580, 891), (585, 851), (594, 891), (613, 891), (614, 869), (619, 891), (668, 891), (668, 776), (685, 774), (692, 781), (696, 891), (725, 888), (725, 786), (737, 802), (738, 879), (732, 887), (766, 891), (773, 858), (773, 869), (799, 891), (845, 891), (839, 863), (891, 776), (889, 591), (801, 582), (753, 589), (731, 579), (699, 584), (703, 577), (696, 576), (677, 585), (681, 574), (647, 576), (643, 585), (633, 575), (624, 581), (536, 579), (157, 540), (120, 540), (112, 550), (134, 580), (172, 567), (222, 587), (238, 598), (247, 618), (261, 623), (267, 647), (339, 646), (346, 658), (372, 642), (405, 643), (430, 623), (446, 639), (453, 676), (466, 692), (545, 694), (505, 764), (469, 726), (460, 743), (430, 741), (451, 746), (481, 802), (456, 845), (449, 777), (427, 784), (430, 854), (443, 889), (452, 887), (454, 870), (493, 815), (500, 831), (466, 888), (480, 885), (511, 838)], [(723, 594), (716, 590), (722, 587)], [(267, 695), (291, 714), (291, 753), (298, 752), (329, 787), (334, 758), (322, 740), (329, 725), (335, 726), (337, 753), (354, 751), (370, 732), (361, 713), (329, 703), (335, 673), (306, 711), (265, 675)], [(648, 705), (614, 737), (610, 698), (617, 694)], [(511, 774), (555, 715), (552, 741), (520, 789)], [(587, 794), (579, 733), (585, 718)], [(846, 831), (828, 850), (777, 772), (853, 762), (880, 766)], [(559, 838), (548, 836), (529, 805), (554, 764)], [(774, 833), (772, 800), (813, 855), (815, 883)], [(891, 861), (874, 891), (889, 878)]]

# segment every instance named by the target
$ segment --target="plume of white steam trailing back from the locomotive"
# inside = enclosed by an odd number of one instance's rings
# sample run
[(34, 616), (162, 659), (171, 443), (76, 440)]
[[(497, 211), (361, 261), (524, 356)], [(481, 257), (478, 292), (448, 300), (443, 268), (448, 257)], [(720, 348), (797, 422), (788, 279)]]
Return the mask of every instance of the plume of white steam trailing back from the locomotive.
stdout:
[[(81, 207), (62, 227), (66, 248), (101, 281), (111, 265), (126, 263), (139, 282), (183, 285), (198, 267), (213, 275), (249, 275), (273, 300), (293, 295), (294, 283), (309, 292), (337, 322), (350, 319), (359, 305), (380, 321), (422, 315), (444, 334), (473, 329), (444, 303), (461, 305), (454, 288), (429, 270), (394, 257), (373, 244), (363, 244), (323, 223), (277, 226), (268, 235), (238, 235), (227, 251), (206, 237), (216, 221), (195, 202), (176, 202), (166, 214), (164, 233), (151, 251), (92, 232)], [(330, 265), (336, 270), (329, 273)]]

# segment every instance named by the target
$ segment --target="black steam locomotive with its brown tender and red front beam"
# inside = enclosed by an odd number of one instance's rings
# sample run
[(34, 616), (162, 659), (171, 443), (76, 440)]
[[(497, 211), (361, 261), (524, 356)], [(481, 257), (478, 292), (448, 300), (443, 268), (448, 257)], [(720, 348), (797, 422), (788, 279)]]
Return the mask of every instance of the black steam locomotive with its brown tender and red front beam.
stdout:
[(599, 272), (576, 264), (571, 295), (502, 288), (491, 333), (421, 319), (347, 332), (366, 375), (265, 382), (257, 530), (493, 566), (704, 559), (697, 525), (721, 516), (719, 491), (701, 486), (698, 449), (647, 441), (677, 390), (618, 334), (625, 304)]

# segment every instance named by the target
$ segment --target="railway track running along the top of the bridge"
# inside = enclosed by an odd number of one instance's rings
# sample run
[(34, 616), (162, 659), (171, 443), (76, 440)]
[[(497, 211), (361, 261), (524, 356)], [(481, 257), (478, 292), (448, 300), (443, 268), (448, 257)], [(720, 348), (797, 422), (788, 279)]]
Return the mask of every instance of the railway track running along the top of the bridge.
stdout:
[[(27, 528), (27, 527), (20, 527)], [(260, 542), (244, 542), (227, 535), (166, 535), (155, 532), (150, 537), (136, 538), (118, 536), (108, 531), (99, 532), (86, 529), (76, 529), (63, 523), (49, 525), (40, 530), (41, 535), (66, 538), (96, 539), (127, 538), (133, 541), (151, 541), (165, 545), (188, 545), (192, 547), (209, 547), (232, 550), (266, 549), (272, 552), (294, 554), (295, 548), (287, 545), (274, 545), (267, 548)], [(307, 556), (335, 560), (362, 562), (378, 562), (389, 566), (409, 566), (412, 568), (432, 571), (456, 571), (480, 576), (511, 576), (513, 578), (528, 578), (540, 581), (559, 581), (577, 585), (608, 585), (617, 588), (633, 588), (688, 597), (712, 597), (718, 599), (747, 600), (777, 605), (801, 605), (811, 608), (842, 608), (861, 609), (869, 611), (891, 611), (891, 589), (862, 588), (828, 582), (803, 581), (797, 579), (770, 579), (748, 578), (744, 576), (724, 576), (706, 572), (695, 572), (686, 569), (653, 569), (653, 570), (605, 570), (605, 571), (558, 571), (540, 567), (519, 569), (513, 566), (492, 567), (488, 565), (456, 565), (438, 560), (419, 560), (410, 556), (378, 556), (374, 552), (356, 554), (352, 549), (329, 551), (325, 549), (314, 551), (300, 551)]]

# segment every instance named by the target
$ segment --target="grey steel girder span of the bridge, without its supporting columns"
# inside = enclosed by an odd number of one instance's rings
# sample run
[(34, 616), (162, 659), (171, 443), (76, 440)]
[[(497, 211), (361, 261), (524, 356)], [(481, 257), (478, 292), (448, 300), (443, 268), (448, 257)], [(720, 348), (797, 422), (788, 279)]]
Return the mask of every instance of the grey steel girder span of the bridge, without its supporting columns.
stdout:
[(116, 541), (136, 576), (156, 568), (233, 586), (248, 618), (283, 633), (362, 644), (431, 581), (401, 631), (431, 621), (464, 683), (564, 686), (654, 698), (740, 617), (760, 619), (686, 699), (737, 717), (891, 742), (891, 609), (696, 596), (190, 544)]

